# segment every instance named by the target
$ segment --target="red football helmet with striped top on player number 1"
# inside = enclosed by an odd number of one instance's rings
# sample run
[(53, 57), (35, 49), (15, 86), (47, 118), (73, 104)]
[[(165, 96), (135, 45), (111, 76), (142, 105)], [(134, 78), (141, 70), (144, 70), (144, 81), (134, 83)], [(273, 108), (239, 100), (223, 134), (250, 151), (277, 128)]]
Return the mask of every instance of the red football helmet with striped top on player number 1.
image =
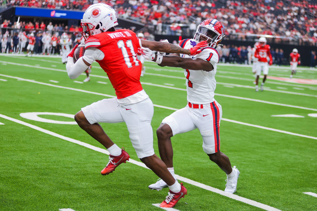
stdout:
[(200, 36), (208, 38), (208, 41), (210, 40), (208, 46), (216, 48), (225, 36), (221, 22), (214, 18), (204, 20), (197, 26), (194, 39), (199, 42)]

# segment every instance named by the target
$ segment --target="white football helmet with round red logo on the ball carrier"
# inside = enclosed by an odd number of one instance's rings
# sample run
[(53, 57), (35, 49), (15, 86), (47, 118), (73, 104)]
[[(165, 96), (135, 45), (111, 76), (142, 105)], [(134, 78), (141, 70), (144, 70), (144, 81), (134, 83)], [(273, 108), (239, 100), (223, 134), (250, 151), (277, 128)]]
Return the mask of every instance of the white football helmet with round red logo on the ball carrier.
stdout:
[(106, 32), (116, 25), (118, 25), (117, 14), (111, 6), (104, 3), (92, 4), (82, 16), (81, 34), (87, 40), (89, 36)]

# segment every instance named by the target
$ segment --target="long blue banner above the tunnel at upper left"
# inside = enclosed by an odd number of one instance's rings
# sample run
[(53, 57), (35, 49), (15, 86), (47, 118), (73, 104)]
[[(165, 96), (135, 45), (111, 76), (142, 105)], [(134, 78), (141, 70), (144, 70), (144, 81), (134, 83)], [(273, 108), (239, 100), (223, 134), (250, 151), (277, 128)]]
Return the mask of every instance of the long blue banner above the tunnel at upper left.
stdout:
[(16, 16), (48, 17), (81, 20), (84, 12), (58, 9), (16, 7)]

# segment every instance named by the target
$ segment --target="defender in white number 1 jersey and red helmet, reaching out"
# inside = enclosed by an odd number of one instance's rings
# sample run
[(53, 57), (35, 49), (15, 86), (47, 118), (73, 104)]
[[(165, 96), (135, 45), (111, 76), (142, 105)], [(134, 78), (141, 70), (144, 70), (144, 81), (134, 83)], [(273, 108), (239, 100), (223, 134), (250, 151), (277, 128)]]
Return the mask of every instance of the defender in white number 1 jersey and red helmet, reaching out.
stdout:
[[(180, 47), (191, 48), (197, 42), (207, 40), (209, 47), (197, 51), (194, 56), (171, 54), (169, 56), (155, 55), (146, 48), (140, 48), (148, 60), (153, 60), (159, 66), (184, 68), (187, 89), (187, 105), (163, 119), (157, 129), (159, 154), (168, 170), (174, 176), (173, 149), (171, 137), (196, 128), (203, 138), (203, 150), (209, 159), (215, 162), (226, 174), (226, 193), (234, 193), (239, 177), (236, 166), (231, 167), (229, 158), (220, 152), (220, 120), (221, 105), (214, 99), (216, 89), (216, 71), (219, 55), (215, 49), (223, 39), (222, 24), (216, 19), (207, 19), (198, 25), (194, 39), (182, 40)], [(167, 187), (163, 180), (149, 185), (150, 189), (161, 190)]]

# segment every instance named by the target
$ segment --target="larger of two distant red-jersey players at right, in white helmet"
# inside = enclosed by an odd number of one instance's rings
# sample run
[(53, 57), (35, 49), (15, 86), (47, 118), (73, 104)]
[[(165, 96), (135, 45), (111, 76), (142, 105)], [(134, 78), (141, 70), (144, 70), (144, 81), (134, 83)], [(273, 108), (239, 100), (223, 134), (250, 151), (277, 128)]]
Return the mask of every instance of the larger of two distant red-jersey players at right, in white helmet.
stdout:
[[(259, 77), (261, 75), (261, 71), (263, 71), (263, 81), (261, 83), (261, 91), (263, 91), (264, 82), (268, 75), (268, 64), (272, 65), (272, 54), (271, 54), (271, 47), (266, 44), (265, 37), (260, 37), (258, 40), (259, 44), (256, 46), (256, 51), (254, 53), (254, 57), (258, 59), (257, 67), (256, 67), (256, 91), (259, 91)], [(268, 61), (268, 57), (270, 60)]]

